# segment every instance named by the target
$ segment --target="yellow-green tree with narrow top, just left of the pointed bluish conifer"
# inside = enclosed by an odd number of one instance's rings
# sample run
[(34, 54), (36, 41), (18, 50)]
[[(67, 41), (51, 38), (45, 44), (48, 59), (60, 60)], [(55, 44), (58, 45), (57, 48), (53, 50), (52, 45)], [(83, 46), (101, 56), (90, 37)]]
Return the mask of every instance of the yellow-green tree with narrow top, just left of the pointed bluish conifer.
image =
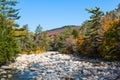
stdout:
[(34, 33), (29, 32), (28, 27), (29, 27), (28, 24), (23, 25), (22, 29), (24, 29), (25, 34), (24, 34), (24, 36), (20, 37), (20, 40), (21, 40), (21, 44), (22, 44), (22, 50), (30, 52), (30, 51), (36, 50), (36, 42), (34, 39), (34, 37), (35, 37)]

